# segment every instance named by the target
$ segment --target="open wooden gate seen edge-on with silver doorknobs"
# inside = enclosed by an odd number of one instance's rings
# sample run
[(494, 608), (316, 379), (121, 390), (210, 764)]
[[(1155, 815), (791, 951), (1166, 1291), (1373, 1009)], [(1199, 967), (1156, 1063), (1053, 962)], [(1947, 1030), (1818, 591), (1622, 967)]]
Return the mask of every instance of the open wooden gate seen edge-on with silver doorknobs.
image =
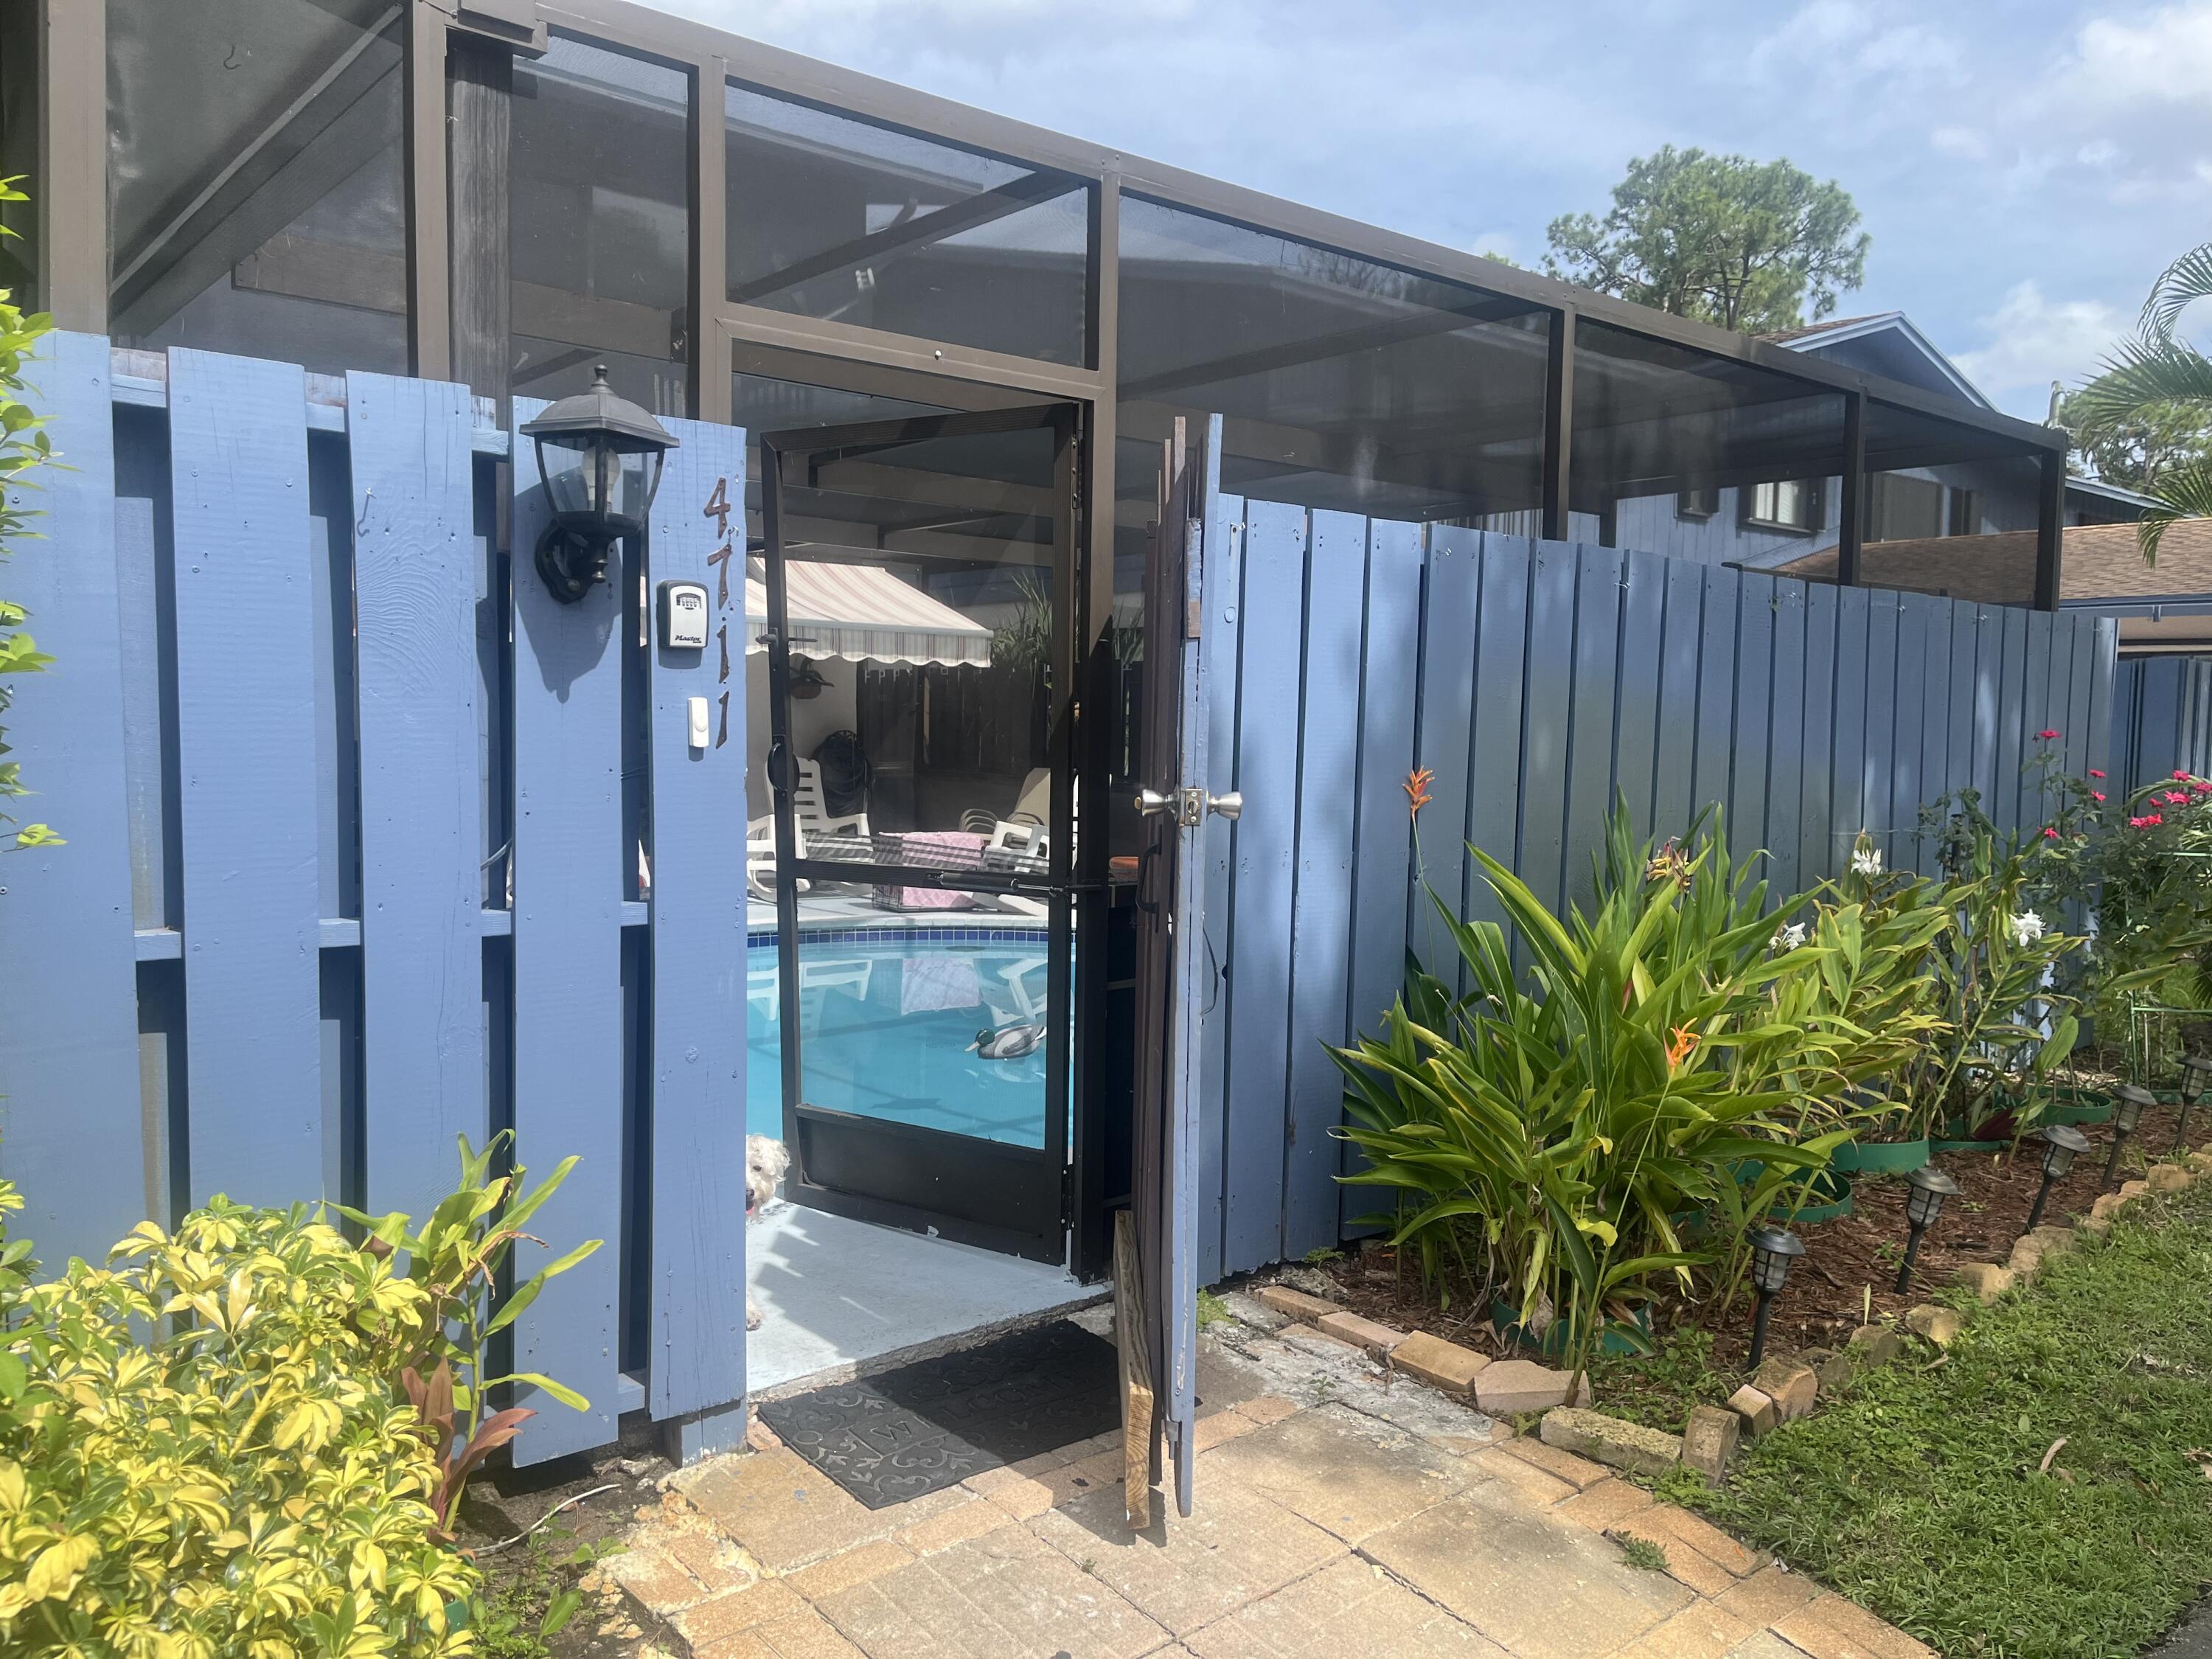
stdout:
[[(1225, 595), (1228, 526), (1219, 515), (1221, 416), (1203, 442), (1183, 420), (1164, 445), (1159, 522), (1144, 615), (1144, 854), (1137, 885), (1135, 1232), (1157, 1427), (1175, 1460), (1175, 1502), (1192, 1500), (1197, 1332), (1199, 1020), (1214, 995), (1206, 960), (1201, 838), (1234, 794), (1210, 794), (1206, 633)], [(1157, 1444), (1157, 1442), (1155, 1442)]]

